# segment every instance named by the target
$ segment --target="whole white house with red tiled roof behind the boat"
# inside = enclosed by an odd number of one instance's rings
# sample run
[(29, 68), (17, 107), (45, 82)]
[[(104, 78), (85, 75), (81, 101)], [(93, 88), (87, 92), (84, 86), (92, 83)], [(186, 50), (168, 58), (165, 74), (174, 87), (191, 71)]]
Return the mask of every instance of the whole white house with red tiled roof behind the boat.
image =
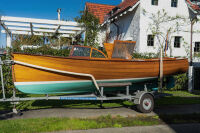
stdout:
[[(200, 53), (200, 0), (122, 0), (119, 5), (109, 7), (112, 8), (109, 12), (105, 12), (108, 5), (99, 4), (101, 8), (97, 5), (86, 5), (85, 9), (100, 18), (101, 46), (104, 42), (128, 40), (136, 41), (138, 53), (158, 53), (168, 42), (168, 56), (190, 57), (192, 41), (192, 53)], [(165, 21), (169, 17), (170, 21)], [(176, 19), (172, 21), (172, 18)], [(155, 35), (156, 28), (161, 35)], [(199, 62), (200, 59), (193, 60), (190, 67), (189, 90), (200, 89)]]

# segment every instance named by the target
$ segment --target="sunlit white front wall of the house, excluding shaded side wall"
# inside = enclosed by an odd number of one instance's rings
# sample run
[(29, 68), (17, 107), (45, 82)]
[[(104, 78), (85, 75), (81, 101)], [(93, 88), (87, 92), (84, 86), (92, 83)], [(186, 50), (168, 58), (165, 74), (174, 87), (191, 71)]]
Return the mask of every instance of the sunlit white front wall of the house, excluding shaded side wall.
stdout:
[[(153, 52), (156, 53), (159, 51), (159, 43), (155, 38), (154, 47), (147, 46), (147, 36), (148, 34), (152, 34), (149, 28), (151, 27), (149, 24), (152, 23), (152, 19), (149, 18), (151, 15), (148, 14), (156, 14), (159, 10), (165, 10), (168, 16), (183, 16), (185, 18), (189, 18), (189, 9), (185, 0), (178, 0), (177, 7), (171, 7), (171, 0), (159, 0), (158, 6), (151, 5), (151, 0), (140, 0), (141, 12), (140, 12), (140, 44), (138, 51), (141, 53), (145, 52)], [(147, 13), (144, 15), (143, 10)], [(188, 20), (189, 21), (189, 20)], [(162, 32), (167, 33), (167, 29), (169, 27), (174, 27), (176, 22), (168, 22), (162, 25)], [(198, 29), (200, 27), (200, 23), (194, 25), (194, 29)], [(182, 36), (181, 47), (174, 47), (174, 36)], [(166, 36), (165, 36), (166, 37)], [(172, 33), (169, 35), (170, 40), (170, 49), (167, 51), (168, 55), (171, 56), (188, 56), (189, 44), (190, 44), (190, 24), (185, 23), (184, 26), (180, 28), (180, 31)], [(164, 41), (162, 39), (161, 41)], [(193, 46), (196, 41), (200, 41), (200, 34), (194, 33), (193, 35)], [(193, 48), (194, 50), (194, 48)]]

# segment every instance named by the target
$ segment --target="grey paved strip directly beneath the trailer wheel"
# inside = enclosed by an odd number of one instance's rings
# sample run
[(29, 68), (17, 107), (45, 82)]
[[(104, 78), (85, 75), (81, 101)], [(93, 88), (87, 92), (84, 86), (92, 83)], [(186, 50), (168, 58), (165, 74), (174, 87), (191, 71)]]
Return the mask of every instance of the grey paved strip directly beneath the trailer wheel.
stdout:
[(0, 120), (3, 119), (25, 119), (25, 118), (44, 118), (44, 117), (70, 117), (70, 118), (93, 118), (102, 115), (111, 116), (138, 116), (138, 115), (157, 115), (157, 114), (192, 114), (200, 113), (200, 104), (192, 105), (173, 105), (155, 108), (154, 112), (142, 114), (136, 111), (136, 108), (106, 108), (106, 109), (70, 109), (70, 108), (53, 108), (21, 111), (19, 115), (12, 112), (0, 111)]

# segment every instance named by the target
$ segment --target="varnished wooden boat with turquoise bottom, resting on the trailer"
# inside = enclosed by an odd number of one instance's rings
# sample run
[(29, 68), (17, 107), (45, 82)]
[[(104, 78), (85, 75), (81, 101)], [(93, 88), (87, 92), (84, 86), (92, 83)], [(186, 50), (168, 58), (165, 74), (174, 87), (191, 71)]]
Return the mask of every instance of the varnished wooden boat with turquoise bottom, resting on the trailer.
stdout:
[[(94, 92), (98, 89), (96, 83), (138, 83), (158, 78), (159, 59), (131, 59), (127, 54), (130, 47), (111, 44), (105, 44), (105, 47), (108, 56), (83, 46), (71, 46), (69, 57), (13, 53), (14, 84), (24, 93), (71, 94)], [(120, 58), (116, 53), (120, 53)], [(164, 76), (184, 73), (188, 69), (187, 59), (164, 58), (163, 62)]]

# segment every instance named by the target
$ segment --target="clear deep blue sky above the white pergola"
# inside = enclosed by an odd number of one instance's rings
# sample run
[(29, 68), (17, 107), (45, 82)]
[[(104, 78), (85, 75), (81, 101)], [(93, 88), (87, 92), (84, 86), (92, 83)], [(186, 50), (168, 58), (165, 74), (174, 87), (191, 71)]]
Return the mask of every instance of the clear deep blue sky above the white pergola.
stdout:
[(57, 8), (61, 8), (61, 19), (73, 20), (84, 10), (85, 2), (118, 5), (122, 0), (0, 0), (0, 15), (57, 19)]

